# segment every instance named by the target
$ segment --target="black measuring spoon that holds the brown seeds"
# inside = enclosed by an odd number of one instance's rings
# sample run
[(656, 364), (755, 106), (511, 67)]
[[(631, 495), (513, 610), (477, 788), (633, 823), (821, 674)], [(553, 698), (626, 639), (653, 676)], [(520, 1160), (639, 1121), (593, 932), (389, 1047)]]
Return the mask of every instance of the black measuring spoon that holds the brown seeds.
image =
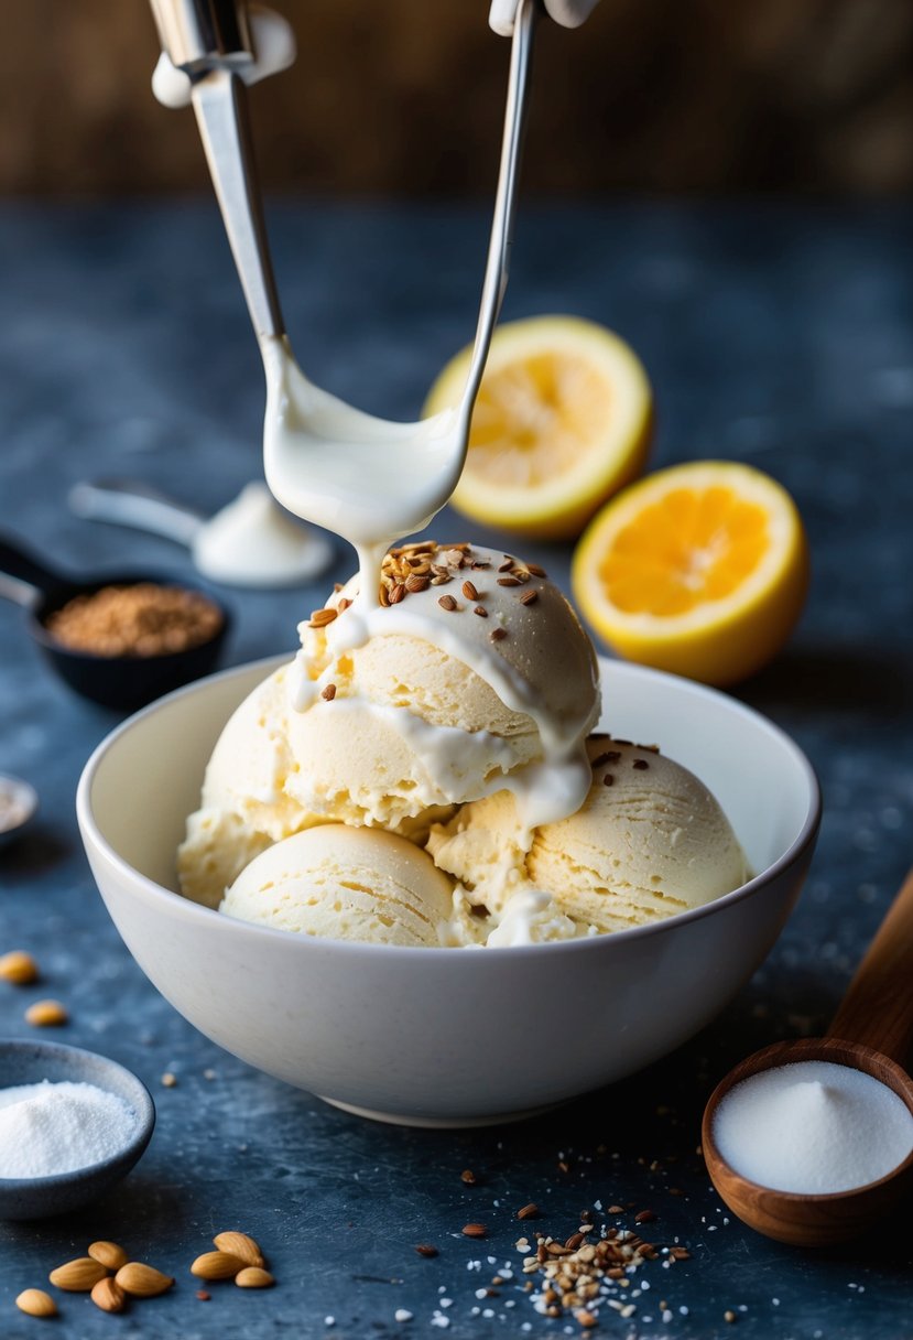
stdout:
[(32, 642), (71, 689), (84, 698), (91, 698), (92, 702), (124, 712), (134, 712), (153, 698), (209, 674), (218, 659), (230, 624), (226, 607), (206, 591), (203, 594), (220, 610), (222, 623), (208, 642), (187, 647), (185, 651), (161, 657), (96, 657), (66, 647), (47, 627), (48, 618), (74, 596), (91, 595), (102, 587), (137, 586), (141, 582), (199, 590), (173, 576), (149, 572), (106, 574), (74, 580), (0, 537), (0, 599), (23, 606), (28, 614), (25, 627)]

